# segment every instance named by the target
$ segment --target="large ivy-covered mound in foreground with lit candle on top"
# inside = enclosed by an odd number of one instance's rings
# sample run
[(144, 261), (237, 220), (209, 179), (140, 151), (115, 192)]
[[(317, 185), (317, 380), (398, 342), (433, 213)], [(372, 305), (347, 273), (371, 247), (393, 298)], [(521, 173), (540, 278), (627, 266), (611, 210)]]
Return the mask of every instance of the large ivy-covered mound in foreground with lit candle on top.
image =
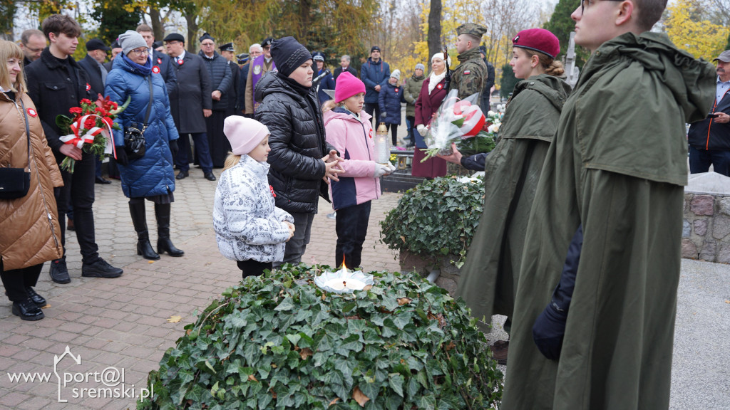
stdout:
[[(326, 266), (322, 268), (328, 268)], [(138, 409), (489, 409), (502, 374), (464, 301), (418, 277), (325, 293), (287, 266), (228, 288), (151, 371)]]

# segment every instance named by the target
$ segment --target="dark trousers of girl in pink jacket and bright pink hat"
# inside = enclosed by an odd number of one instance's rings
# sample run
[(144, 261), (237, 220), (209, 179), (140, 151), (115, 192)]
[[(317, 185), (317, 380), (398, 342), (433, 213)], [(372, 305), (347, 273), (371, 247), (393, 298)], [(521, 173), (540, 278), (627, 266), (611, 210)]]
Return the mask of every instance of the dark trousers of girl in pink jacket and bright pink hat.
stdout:
[(371, 203), (372, 201), (367, 201), (363, 204), (337, 209), (335, 223), (337, 247), (334, 249), (334, 266), (340, 266), (343, 261), (350, 268), (360, 266)]

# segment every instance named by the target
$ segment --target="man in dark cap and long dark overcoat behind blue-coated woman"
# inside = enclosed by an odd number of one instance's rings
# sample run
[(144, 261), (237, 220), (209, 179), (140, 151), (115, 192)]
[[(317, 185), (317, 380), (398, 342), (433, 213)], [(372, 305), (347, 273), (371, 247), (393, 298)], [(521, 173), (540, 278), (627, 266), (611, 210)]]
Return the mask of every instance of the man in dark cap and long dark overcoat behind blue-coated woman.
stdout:
[(208, 136), (205, 118), (212, 114), (212, 93), (210, 74), (205, 68), (203, 59), (196, 54), (185, 52), (185, 37), (182, 34), (169, 34), (164, 39), (167, 55), (177, 77), (177, 87), (169, 93), (170, 112), (180, 134), (180, 150), (175, 158), (175, 165), (180, 169), (175, 179), (188, 177), (190, 170), (190, 134), (200, 161), (203, 174), (209, 181), (215, 181), (213, 163), (208, 150)]

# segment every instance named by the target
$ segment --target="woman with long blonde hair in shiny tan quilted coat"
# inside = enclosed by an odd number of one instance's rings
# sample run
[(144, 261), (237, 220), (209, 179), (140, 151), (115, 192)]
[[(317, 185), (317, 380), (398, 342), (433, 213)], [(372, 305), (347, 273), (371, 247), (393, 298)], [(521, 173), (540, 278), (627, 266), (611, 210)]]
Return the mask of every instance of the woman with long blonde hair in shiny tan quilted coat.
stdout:
[(63, 255), (53, 187), (64, 182), (26, 94), (23, 52), (15, 43), (0, 40), (0, 61), (0, 168), (30, 169), (25, 196), (0, 198), (0, 279), (12, 313), (22, 320), (39, 320), (46, 301), (33, 287), (43, 263)]

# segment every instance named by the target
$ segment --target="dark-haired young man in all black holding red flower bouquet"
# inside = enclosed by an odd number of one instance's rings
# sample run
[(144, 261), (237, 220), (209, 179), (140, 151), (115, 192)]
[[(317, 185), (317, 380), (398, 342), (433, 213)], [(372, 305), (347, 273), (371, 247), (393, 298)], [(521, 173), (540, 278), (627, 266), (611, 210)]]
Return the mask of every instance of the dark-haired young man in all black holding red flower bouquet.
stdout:
[[(59, 138), (66, 133), (55, 123), (56, 115), (69, 115), (69, 109), (78, 107), (82, 98), (92, 98), (88, 74), (71, 57), (78, 45), (81, 28), (66, 15), (51, 15), (43, 20), (42, 28), (50, 41), (50, 47), (43, 50), (39, 61), (26, 68), (28, 95), (36, 104), (48, 145), (58, 163), (66, 157), (76, 160), (73, 174), (61, 171), (64, 186), (55, 190), (61, 242), (66, 243), (66, 212), (69, 211), (69, 205), (73, 205), (76, 237), (82, 255), (81, 275), (118, 277), (123, 271), (99, 257), (94, 235), (94, 155), (61, 142)], [(65, 247), (64, 258), (51, 263), (50, 277), (56, 283), (71, 282), (66, 268)]]

